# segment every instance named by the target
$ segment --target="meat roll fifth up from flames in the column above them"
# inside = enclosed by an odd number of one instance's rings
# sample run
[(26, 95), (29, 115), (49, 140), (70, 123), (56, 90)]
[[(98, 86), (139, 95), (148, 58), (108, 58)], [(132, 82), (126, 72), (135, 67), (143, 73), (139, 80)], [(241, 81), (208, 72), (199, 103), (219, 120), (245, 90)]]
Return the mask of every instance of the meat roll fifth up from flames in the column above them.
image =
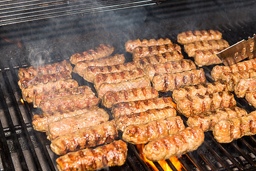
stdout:
[(111, 108), (116, 103), (152, 99), (158, 96), (159, 93), (153, 87), (132, 88), (117, 92), (108, 91), (102, 97), (101, 104), (107, 108)]

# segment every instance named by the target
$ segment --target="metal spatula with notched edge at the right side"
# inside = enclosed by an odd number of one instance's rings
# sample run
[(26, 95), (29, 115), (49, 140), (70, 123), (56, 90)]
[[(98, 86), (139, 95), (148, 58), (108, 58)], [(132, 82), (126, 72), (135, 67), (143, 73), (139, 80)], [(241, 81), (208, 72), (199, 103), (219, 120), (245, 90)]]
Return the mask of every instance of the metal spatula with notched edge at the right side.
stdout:
[(256, 35), (254, 34), (253, 38), (249, 37), (248, 40), (243, 39), (216, 55), (221, 59), (225, 66), (231, 66), (249, 56), (256, 58), (255, 41)]

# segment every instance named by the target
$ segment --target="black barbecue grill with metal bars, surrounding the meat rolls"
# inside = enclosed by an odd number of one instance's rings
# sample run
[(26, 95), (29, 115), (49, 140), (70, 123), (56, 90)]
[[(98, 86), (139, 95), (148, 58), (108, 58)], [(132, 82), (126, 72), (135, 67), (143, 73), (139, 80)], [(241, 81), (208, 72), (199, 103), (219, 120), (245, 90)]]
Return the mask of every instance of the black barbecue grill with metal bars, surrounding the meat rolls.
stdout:
[[(32, 115), (41, 111), (22, 101), (19, 68), (69, 59), (100, 43), (112, 44), (114, 53), (124, 53), (129, 62), (131, 55), (124, 50), (127, 40), (168, 37), (176, 43), (177, 34), (188, 30), (216, 29), (234, 44), (255, 33), (255, 7), (253, 0), (0, 1), (0, 169), (57, 170), (58, 156), (52, 153), (50, 141), (32, 128)], [(208, 82), (213, 82), (213, 66), (202, 68)], [(92, 87), (72, 76), (80, 86)], [(245, 99), (235, 100), (247, 112), (255, 110)], [(105, 170), (179, 170), (172, 160), (145, 160), (140, 146), (128, 144), (125, 164)], [(181, 170), (256, 170), (256, 136), (219, 144), (212, 132), (206, 132), (200, 148), (177, 159)]]

